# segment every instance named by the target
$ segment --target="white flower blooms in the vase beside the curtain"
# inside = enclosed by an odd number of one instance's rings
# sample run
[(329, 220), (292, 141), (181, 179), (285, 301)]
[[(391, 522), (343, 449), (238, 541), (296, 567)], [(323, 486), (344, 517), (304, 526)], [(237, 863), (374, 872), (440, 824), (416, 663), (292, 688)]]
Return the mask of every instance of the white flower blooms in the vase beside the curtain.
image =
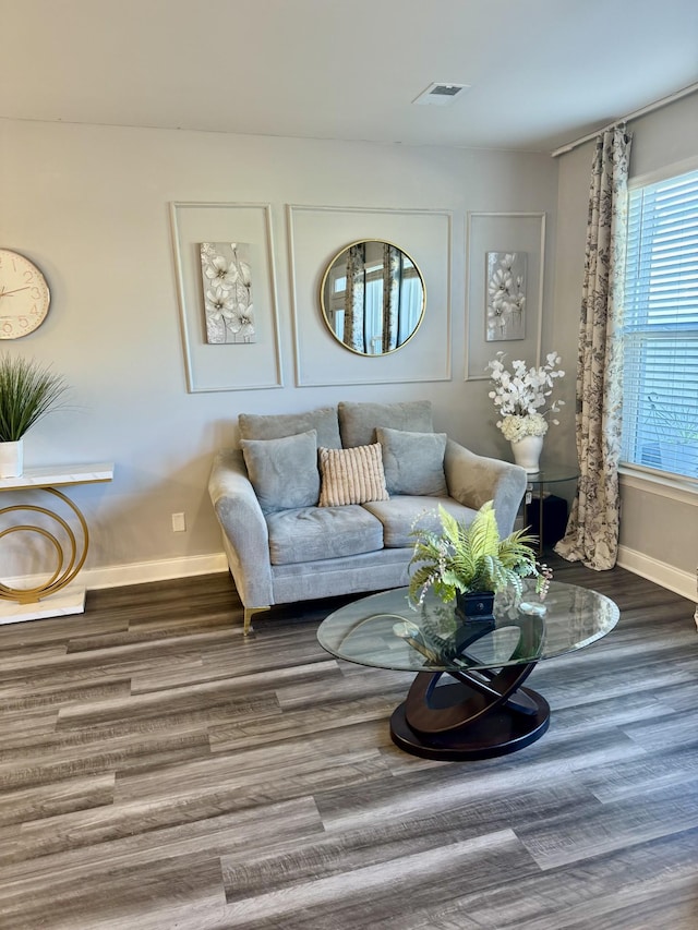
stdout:
[[(558, 413), (565, 404), (564, 400), (556, 400), (547, 409), (541, 410), (549, 402), (555, 378), (565, 376), (565, 372), (556, 370), (562, 362), (561, 357), (557, 352), (550, 352), (544, 365), (530, 369), (526, 362), (517, 359), (512, 362), (510, 372), (504, 367), (503, 359), (504, 352), (497, 352), (496, 358), (488, 362), (494, 384), (489, 397), (503, 414), (502, 420), (497, 421), (497, 427), (513, 443), (518, 443), (525, 436), (544, 436), (549, 428), (546, 418), (551, 413)], [(559, 420), (550, 422), (558, 425)]]

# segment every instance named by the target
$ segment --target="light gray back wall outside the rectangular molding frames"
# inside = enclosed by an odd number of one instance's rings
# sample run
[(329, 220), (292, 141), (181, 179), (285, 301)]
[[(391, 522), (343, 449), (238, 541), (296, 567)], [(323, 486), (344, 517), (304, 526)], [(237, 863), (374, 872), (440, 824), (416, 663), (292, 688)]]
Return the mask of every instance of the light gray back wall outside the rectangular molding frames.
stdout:
[[(33, 258), (52, 294), (46, 323), (1, 348), (52, 362), (73, 386), (73, 409), (27, 435), (25, 463), (116, 463), (111, 484), (71, 492), (91, 524), (93, 580), (216, 564), (206, 482), (214, 451), (234, 442), (239, 412), (428, 397), (437, 428), (508, 457), (486, 381), (464, 383), (466, 214), (547, 215), (547, 312), (557, 197), (549, 156), (1, 120), (0, 158), (0, 242)], [(168, 210), (176, 201), (272, 204), (282, 388), (188, 394)], [(294, 386), (286, 204), (453, 212), (450, 379)], [(338, 235), (327, 251), (345, 244)], [(306, 293), (299, 326), (318, 312)], [(546, 322), (549, 348), (550, 337)], [(179, 511), (188, 532), (174, 534)], [(3, 542), (2, 572), (21, 572)]]

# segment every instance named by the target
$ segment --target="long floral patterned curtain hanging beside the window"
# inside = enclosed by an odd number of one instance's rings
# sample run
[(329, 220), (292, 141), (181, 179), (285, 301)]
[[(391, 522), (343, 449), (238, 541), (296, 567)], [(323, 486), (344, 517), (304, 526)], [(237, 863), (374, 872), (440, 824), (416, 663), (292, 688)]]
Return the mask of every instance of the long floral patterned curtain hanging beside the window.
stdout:
[(618, 552), (623, 276), (630, 134), (625, 124), (597, 137), (577, 357), (579, 484), (555, 552), (597, 570)]

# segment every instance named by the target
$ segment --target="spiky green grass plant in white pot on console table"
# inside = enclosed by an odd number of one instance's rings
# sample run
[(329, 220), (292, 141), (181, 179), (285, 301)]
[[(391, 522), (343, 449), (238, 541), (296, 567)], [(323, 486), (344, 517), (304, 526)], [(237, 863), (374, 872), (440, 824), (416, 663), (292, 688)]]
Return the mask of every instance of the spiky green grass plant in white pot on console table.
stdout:
[(19, 478), (24, 434), (60, 407), (68, 385), (34, 359), (0, 355), (0, 478)]

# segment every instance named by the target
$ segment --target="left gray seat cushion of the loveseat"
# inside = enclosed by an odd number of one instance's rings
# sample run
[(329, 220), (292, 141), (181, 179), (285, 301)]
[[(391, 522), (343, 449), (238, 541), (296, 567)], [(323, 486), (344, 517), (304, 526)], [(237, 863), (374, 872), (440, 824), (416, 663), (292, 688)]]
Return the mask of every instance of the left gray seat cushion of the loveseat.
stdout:
[(359, 504), (267, 514), (272, 565), (316, 561), (383, 548), (380, 520)]

